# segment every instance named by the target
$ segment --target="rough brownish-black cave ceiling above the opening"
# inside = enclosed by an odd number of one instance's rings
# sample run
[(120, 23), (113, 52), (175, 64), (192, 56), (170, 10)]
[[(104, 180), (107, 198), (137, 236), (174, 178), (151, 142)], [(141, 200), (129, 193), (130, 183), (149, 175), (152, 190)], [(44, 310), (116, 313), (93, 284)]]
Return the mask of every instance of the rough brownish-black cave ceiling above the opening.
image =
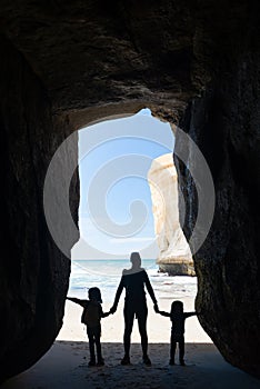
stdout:
[(0, 8), (0, 20), (43, 80), (52, 110), (79, 128), (92, 109), (112, 104), (117, 113), (131, 104), (133, 113), (140, 101), (152, 103), (166, 119), (183, 111), (196, 91), (191, 3), (13, 0)]

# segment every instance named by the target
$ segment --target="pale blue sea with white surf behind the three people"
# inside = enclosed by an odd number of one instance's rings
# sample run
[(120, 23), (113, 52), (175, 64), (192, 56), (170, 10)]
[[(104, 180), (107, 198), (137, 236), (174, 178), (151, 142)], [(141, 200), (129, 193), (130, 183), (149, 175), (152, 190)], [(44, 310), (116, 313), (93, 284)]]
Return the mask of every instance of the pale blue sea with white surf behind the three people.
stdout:
[[(103, 302), (112, 302), (122, 270), (128, 268), (129, 259), (72, 260), (69, 296), (87, 298), (89, 288), (99, 287)], [(197, 277), (169, 277), (158, 272), (154, 259), (142, 259), (142, 268), (147, 270), (158, 299), (196, 297)]]

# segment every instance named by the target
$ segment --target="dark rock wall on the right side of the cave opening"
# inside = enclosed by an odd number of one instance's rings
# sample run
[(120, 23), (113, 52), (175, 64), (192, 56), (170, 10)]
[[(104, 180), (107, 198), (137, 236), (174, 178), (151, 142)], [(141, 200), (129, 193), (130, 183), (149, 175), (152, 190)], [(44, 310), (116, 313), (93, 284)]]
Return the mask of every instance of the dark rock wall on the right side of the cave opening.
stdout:
[[(199, 320), (229, 362), (259, 375), (260, 48), (252, 26), (251, 20), (236, 30), (237, 42), (227, 43), (207, 91), (190, 103), (180, 128), (206, 157), (216, 188), (213, 223), (194, 256)], [(177, 149), (183, 147), (177, 139)], [(197, 163), (191, 152), (187, 162)], [(197, 190), (188, 169), (178, 158), (176, 163), (189, 238)]]

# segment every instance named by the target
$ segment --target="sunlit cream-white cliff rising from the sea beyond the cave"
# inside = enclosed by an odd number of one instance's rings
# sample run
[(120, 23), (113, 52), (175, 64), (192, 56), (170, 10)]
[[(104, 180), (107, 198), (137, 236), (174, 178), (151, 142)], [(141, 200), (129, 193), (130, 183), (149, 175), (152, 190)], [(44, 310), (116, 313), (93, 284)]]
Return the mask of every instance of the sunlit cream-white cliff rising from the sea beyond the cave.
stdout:
[(148, 172), (152, 198), (158, 265), (171, 276), (194, 275), (189, 245), (179, 222), (178, 178), (171, 153), (156, 158)]

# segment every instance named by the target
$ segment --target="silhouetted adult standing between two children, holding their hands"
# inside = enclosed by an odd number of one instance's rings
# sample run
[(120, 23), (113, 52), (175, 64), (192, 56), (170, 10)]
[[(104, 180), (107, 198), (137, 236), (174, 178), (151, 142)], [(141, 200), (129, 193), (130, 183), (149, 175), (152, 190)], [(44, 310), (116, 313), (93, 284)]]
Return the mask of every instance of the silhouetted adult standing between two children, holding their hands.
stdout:
[(153, 301), (154, 310), (158, 310), (157, 299), (152, 289), (152, 286), (149, 281), (148, 275), (144, 269), (141, 268), (141, 258), (139, 252), (132, 252), (130, 257), (132, 262), (131, 269), (123, 270), (121, 281), (118, 286), (118, 290), (114, 297), (113, 306), (110, 309), (111, 313), (114, 313), (118, 307), (120, 296), (123, 288), (126, 288), (126, 298), (124, 298), (124, 335), (123, 335), (123, 346), (124, 346), (124, 357), (121, 360), (121, 365), (130, 363), (130, 343), (131, 343), (131, 332), (133, 326), (134, 315), (138, 319), (139, 332), (141, 336), (142, 345), (142, 357), (143, 362), (147, 366), (151, 366), (151, 361), (148, 357), (148, 337), (147, 337), (147, 299), (144, 285), (147, 290)]

